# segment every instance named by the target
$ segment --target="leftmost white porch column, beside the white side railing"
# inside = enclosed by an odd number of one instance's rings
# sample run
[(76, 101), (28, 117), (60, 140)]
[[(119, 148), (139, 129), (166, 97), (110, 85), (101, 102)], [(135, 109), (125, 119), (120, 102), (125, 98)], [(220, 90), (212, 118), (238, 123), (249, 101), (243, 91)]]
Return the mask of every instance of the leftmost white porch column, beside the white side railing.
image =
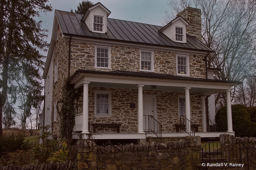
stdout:
[(81, 133), (89, 133), (88, 130), (88, 85), (90, 81), (83, 81), (83, 129)]

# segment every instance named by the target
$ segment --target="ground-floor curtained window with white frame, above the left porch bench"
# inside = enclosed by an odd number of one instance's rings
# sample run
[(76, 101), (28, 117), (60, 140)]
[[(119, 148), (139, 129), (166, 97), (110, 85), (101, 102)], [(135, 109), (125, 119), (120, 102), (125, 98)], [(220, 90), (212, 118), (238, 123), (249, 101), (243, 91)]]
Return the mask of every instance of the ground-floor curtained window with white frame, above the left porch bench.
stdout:
[(95, 116), (111, 116), (111, 91), (94, 91)]

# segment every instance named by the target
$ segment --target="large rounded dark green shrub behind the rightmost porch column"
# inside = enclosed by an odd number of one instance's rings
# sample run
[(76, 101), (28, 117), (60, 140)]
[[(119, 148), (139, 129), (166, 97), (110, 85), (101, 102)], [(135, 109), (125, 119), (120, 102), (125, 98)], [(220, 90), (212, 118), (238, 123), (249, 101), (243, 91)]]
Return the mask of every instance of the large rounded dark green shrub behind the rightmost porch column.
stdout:
[[(254, 136), (255, 127), (253, 127), (253, 123), (250, 120), (250, 115), (247, 112), (246, 106), (241, 104), (232, 105), (231, 111), (233, 131), (236, 132), (235, 135), (237, 137)], [(228, 130), (227, 106), (218, 110), (215, 115), (215, 122), (217, 124), (218, 131), (226, 132)]]

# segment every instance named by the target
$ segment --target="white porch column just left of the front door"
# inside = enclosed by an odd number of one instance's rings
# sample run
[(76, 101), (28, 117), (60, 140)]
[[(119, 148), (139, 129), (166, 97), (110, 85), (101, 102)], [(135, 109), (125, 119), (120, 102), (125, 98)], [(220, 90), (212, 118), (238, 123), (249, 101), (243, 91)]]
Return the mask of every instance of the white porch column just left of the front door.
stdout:
[(144, 84), (137, 84), (138, 87), (138, 133), (144, 133), (143, 130), (143, 93)]

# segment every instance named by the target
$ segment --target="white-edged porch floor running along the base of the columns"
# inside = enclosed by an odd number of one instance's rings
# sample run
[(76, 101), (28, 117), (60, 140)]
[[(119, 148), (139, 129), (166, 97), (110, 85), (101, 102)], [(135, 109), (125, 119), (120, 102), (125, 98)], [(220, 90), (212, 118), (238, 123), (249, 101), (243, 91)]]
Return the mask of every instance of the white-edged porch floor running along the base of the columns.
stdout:
[[(235, 135), (230, 132), (195, 132), (195, 136), (205, 137), (219, 137), (220, 134)], [(80, 133), (73, 133), (73, 139), (78, 139)], [(93, 139), (146, 139), (147, 137), (156, 137), (154, 133), (92, 133)], [(185, 137), (188, 136), (186, 132), (173, 132), (173, 133), (162, 133), (162, 137)], [(83, 135), (84, 139), (87, 139), (86, 134)]]

